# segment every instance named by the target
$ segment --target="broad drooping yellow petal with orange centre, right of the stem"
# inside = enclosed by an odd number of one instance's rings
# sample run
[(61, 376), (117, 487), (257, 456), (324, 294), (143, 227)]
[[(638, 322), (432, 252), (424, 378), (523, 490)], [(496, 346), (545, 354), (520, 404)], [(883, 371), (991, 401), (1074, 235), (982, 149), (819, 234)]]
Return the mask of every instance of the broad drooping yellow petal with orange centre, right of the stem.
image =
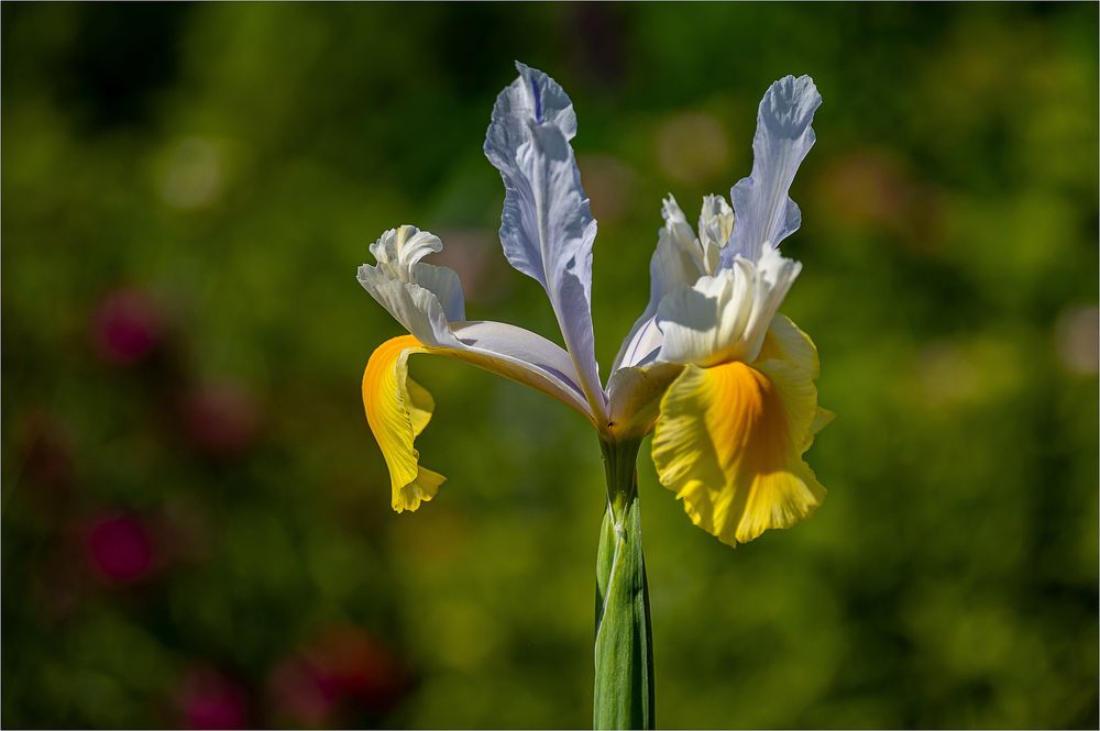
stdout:
[(827, 422), (816, 376), (813, 343), (785, 318), (751, 365), (684, 368), (661, 402), (652, 452), (696, 525), (735, 545), (821, 505), (825, 488), (802, 459)]

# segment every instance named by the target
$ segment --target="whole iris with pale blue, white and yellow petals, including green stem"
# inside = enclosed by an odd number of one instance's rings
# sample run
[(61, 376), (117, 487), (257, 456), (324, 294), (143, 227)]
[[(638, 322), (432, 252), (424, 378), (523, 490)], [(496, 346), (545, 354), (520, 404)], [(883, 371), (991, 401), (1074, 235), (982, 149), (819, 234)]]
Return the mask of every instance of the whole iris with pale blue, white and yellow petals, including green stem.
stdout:
[(803, 459), (832, 414), (817, 406), (817, 351), (779, 313), (801, 264), (780, 243), (801, 223), (789, 190), (814, 144), (821, 96), (784, 77), (760, 102), (751, 174), (703, 199), (695, 230), (672, 196), (650, 262), (650, 296), (600, 378), (592, 330), (596, 221), (570, 141), (573, 104), (542, 71), (517, 64), (496, 99), (484, 152), (505, 187), (501, 242), (546, 290), (564, 347), (516, 325), (466, 320), (458, 275), (425, 262), (438, 236), (411, 225), (371, 245), (359, 281), (409, 334), (375, 350), (363, 375), (366, 418), (389, 469), (394, 510), (417, 510), (444, 477), (415, 440), (435, 408), (408, 375), (414, 354), (464, 361), (581, 413), (604, 453), (607, 505), (596, 566), (597, 727), (653, 723), (648, 585), (636, 456), (652, 433), (661, 484), (692, 522), (729, 545), (789, 528), (825, 488)]

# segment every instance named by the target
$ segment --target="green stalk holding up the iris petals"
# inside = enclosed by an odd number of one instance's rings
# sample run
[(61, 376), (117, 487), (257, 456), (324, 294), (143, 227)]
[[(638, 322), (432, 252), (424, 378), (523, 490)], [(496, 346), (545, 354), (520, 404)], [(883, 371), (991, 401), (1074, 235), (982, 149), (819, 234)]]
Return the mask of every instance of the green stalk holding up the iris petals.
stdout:
[(653, 631), (641, 554), (640, 441), (604, 442), (607, 509), (596, 555), (595, 729), (652, 729)]

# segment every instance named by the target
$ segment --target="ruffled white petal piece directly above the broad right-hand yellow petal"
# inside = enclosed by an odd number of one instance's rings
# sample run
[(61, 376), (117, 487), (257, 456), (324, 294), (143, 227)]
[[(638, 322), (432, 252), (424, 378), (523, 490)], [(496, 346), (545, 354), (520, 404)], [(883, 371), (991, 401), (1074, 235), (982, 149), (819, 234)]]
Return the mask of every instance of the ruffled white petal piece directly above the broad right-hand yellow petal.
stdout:
[(714, 366), (751, 363), (802, 265), (773, 250), (757, 263), (737, 257), (730, 268), (702, 277), (661, 300), (660, 361)]

